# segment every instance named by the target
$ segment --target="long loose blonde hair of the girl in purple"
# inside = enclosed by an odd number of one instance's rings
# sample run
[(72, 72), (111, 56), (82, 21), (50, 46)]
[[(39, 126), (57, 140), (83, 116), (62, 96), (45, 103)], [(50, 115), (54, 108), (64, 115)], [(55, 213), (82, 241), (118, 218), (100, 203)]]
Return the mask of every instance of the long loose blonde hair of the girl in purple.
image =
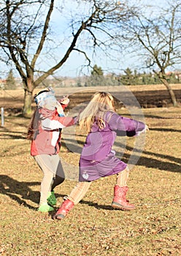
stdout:
[(112, 95), (104, 91), (96, 92), (96, 94), (93, 94), (87, 107), (80, 113), (80, 129), (85, 128), (87, 132), (90, 132), (95, 118), (99, 129), (104, 129), (104, 117), (107, 111), (115, 112), (115, 104)]

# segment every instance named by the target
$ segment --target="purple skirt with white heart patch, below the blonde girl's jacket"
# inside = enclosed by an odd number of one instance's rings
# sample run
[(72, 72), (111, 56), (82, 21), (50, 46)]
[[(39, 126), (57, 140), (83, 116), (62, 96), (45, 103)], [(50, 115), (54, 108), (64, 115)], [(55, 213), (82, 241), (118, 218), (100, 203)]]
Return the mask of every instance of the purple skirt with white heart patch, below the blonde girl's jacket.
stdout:
[(115, 152), (99, 161), (88, 161), (80, 157), (79, 181), (94, 181), (101, 177), (112, 176), (126, 169), (126, 163), (115, 157)]

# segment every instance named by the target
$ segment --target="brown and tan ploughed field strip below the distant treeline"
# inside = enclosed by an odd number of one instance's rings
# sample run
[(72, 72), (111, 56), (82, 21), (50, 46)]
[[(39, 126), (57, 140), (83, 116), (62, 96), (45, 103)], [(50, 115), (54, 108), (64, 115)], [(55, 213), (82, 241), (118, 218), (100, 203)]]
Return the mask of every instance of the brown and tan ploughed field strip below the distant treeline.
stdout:
[[(177, 102), (181, 102), (181, 85), (172, 85), (172, 89), (177, 98)], [(34, 90), (34, 94), (41, 89)], [(88, 102), (90, 97), (96, 91), (109, 91), (115, 97), (116, 108), (124, 105), (139, 106), (141, 108), (162, 108), (172, 105), (169, 91), (163, 85), (152, 86), (122, 86), (114, 87), (72, 87), (55, 89), (57, 98), (69, 94), (69, 109), (74, 108), (82, 102)], [(23, 89), (0, 91), (1, 105), (7, 113), (20, 113), (23, 108)], [(34, 107), (34, 102), (32, 102)]]

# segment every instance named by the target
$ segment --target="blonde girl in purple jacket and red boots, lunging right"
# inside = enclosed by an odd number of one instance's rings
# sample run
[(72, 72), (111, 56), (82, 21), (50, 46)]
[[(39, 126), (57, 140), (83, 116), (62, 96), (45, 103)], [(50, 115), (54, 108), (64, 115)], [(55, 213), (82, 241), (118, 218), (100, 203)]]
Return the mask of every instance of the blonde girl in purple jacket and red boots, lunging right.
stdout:
[(114, 174), (116, 184), (112, 207), (123, 211), (134, 209), (135, 206), (126, 200), (128, 167), (125, 162), (115, 157), (112, 146), (118, 131), (128, 136), (139, 135), (148, 129), (147, 125), (115, 113), (114, 99), (106, 92), (93, 95), (87, 107), (80, 113), (79, 123), (80, 129), (88, 132), (80, 156), (79, 182), (70, 195), (64, 197), (53, 219), (63, 219), (82, 200), (92, 181)]

